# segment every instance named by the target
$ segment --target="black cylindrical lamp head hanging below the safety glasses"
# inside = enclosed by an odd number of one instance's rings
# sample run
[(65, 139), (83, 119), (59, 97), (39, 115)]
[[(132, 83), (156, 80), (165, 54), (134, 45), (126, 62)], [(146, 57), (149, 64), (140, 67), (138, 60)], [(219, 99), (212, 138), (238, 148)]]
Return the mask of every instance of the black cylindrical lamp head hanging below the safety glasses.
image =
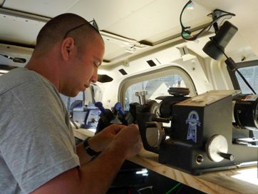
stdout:
[(220, 27), (215, 36), (210, 37), (210, 41), (205, 44), (202, 51), (215, 60), (219, 60), (224, 54), (225, 47), (229, 44), (234, 34), (237, 33), (237, 27), (229, 21)]

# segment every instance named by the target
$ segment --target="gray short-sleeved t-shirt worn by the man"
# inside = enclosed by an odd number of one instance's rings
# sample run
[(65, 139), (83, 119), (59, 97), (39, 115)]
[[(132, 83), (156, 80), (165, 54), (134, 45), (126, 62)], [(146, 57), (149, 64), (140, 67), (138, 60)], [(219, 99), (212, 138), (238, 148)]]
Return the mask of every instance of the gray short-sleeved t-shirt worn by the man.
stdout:
[(34, 71), (0, 76), (0, 193), (30, 193), (80, 165), (68, 112)]

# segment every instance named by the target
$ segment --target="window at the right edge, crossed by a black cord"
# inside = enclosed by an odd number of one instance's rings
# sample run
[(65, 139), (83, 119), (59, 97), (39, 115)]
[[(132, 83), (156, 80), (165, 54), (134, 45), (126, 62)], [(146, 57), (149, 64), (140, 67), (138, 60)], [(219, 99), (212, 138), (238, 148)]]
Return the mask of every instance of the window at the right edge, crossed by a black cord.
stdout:
[[(254, 91), (257, 93), (258, 91), (258, 66), (248, 66), (244, 68), (238, 68), (240, 73), (242, 73), (242, 76), (247, 80), (250, 86), (254, 89)], [(236, 73), (237, 81), (239, 83), (240, 89), (242, 93), (253, 93), (252, 90), (247, 86), (246, 83), (244, 83), (241, 76), (239, 76), (238, 73)]]

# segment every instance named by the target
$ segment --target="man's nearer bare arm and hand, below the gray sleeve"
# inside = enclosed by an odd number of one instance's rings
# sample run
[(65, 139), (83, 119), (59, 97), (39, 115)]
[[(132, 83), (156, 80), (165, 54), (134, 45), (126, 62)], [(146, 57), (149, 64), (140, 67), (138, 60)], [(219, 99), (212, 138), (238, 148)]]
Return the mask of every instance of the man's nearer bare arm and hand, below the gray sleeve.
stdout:
[(137, 126), (125, 127), (97, 158), (41, 185), (33, 193), (106, 193), (126, 158), (140, 151)]

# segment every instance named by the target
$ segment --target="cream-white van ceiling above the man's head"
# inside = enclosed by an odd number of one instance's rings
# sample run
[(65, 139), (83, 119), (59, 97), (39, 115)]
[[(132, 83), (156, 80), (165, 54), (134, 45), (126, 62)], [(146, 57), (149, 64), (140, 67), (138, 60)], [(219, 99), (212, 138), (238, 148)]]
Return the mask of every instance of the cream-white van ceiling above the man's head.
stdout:
[[(91, 21), (95, 19), (105, 40), (104, 65), (114, 64), (153, 46), (180, 36), (180, 13), (188, 0), (0, 0), (1, 48), (24, 46), (33, 49), (41, 27), (54, 16), (75, 13)], [(195, 0), (184, 14), (184, 24), (202, 26), (210, 21), (207, 14), (215, 9), (229, 11), (230, 21), (243, 33), (257, 34), (258, 1)], [(250, 4), (247, 4), (249, 2)], [(253, 14), (249, 12), (253, 11)], [(248, 21), (248, 25), (247, 25)], [(249, 24), (252, 25), (249, 25)], [(251, 43), (254, 42), (249, 37)], [(256, 39), (256, 38), (255, 38)], [(254, 48), (257, 44), (254, 44)], [(257, 48), (258, 51), (258, 48)], [(11, 52), (10, 52), (11, 53)], [(17, 53), (22, 56), (24, 53)], [(258, 52), (257, 52), (258, 53)], [(3, 63), (0, 58), (0, 63)], [(7, 63), (7, 62), (6, 62)]]

